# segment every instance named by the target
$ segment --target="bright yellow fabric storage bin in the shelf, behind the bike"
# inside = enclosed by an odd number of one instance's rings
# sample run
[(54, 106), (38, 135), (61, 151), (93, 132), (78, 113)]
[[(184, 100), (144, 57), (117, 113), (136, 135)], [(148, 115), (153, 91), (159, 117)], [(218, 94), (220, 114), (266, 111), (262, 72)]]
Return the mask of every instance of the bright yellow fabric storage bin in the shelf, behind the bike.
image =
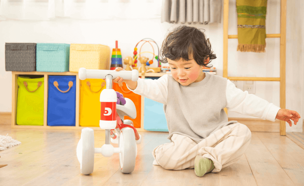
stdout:
[(99, 127), (101, 111), (99, 97), (103, 89), (105, 89), (103, 79), (80, 80), (80, 126)]

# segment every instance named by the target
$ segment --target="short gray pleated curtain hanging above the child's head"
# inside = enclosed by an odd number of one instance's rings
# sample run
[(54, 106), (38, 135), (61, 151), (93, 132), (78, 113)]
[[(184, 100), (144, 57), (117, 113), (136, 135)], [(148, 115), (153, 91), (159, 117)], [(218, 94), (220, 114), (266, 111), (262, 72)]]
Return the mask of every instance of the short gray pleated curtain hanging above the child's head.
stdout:
[(161, 22), (221, 23), (223, 0), (163, 0)]

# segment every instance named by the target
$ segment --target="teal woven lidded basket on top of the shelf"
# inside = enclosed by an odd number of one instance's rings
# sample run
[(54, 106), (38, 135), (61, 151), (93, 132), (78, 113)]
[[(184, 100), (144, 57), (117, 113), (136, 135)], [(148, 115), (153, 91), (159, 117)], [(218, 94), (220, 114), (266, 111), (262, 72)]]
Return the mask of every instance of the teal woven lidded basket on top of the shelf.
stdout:
[(36, 47), (36, 71), (69, 71), (70, 44), (37, 43)]

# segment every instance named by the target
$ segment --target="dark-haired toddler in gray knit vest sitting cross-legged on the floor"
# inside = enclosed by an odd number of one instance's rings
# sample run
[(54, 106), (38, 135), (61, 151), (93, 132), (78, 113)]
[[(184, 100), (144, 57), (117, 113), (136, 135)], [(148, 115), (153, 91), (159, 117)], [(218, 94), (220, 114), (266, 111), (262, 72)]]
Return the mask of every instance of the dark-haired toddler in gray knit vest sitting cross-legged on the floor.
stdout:
[[(296, 111), (281, 109), (236, 88), (229, 79), (202, 72), (215, 58), (204, 33), (182, 25), (168, 34), (161, 47), (159, 60), (168, 62), (171, 75), (137, 82), (114, 79), (125, 82), (134, 93), (164, 104), (171, 142), (153, 150), (153, 165), (168, 170), (194, 168), (202, 177), (236, 162), (247, 149), (251, 132), (246, 125), (228, 121), (225, 107), (264, 120), (277, 118), (290, 126), (291, 120), (295, 125), (299, 121)], [(120, 70), (124, 69), (116, 68)]]

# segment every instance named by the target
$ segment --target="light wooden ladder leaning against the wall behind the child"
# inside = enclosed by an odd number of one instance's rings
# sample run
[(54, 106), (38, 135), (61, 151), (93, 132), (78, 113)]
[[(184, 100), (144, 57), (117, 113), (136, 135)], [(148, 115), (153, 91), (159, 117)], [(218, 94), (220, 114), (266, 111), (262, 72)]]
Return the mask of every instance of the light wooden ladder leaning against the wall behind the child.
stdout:
[[(281, 28), (279, 34), (266, 34), (267, 38), (280, 38), (280, 77), (228, 77), (228, 39), (236, 39), (237, 35), (228, 35), (229, 0), (224, 0), (223, 19), (223, 77), (234, 81), (279, 81), (280, 82), (280, 107), (285, 109), (285, 65), (286, 65), (286, 1), (281, 0)], [(225, 108), (227, 113), (227, 110)], [(280, 121), (280, 135), (286, 135), (285, 121)]]

